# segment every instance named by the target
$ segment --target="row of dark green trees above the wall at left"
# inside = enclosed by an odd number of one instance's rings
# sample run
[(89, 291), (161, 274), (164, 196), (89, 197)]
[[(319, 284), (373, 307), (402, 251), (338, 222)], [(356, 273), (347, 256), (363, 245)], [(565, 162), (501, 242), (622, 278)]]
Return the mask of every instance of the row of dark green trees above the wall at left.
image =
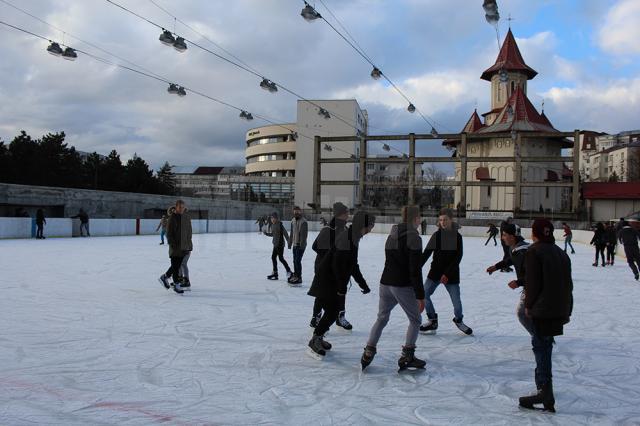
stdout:
[(123, 163), (108, 156), (81, 154), (64, 142), (65, 133), (33, 139), (24, 130), (9, 144), (0, 139), (0, 182), (147, 194), (175, 193), (175, 176), (165, 164), (155, 173), (134, 154)]

